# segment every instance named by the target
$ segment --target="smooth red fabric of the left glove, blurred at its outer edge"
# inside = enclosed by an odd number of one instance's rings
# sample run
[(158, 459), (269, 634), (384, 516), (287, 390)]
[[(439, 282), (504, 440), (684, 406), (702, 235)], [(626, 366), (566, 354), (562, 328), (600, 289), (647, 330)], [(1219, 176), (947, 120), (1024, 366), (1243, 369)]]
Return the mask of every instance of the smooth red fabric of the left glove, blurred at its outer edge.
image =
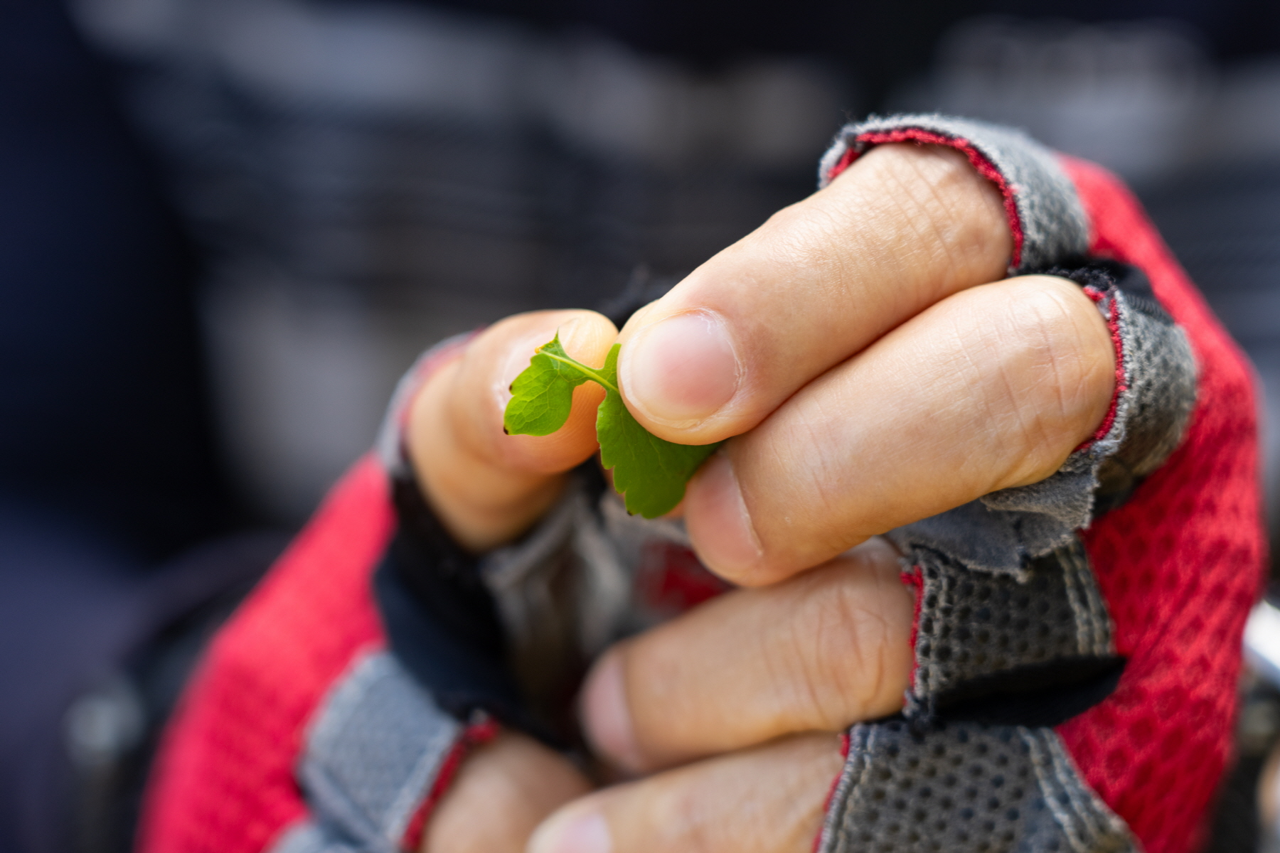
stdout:
[(392, 524), (385, 476), (365, 459), (223, 628), (166, 732), (141, 850), (259, 853), (305, 820), (294, 766), (311, 715), (384, 645), (369, 575)]

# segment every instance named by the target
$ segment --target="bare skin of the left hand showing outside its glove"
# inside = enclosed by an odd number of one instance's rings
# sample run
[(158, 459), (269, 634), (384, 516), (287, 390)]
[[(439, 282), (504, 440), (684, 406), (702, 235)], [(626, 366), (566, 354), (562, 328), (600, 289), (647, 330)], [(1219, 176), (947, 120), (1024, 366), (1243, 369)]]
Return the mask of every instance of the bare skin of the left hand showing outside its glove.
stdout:
[[(476, 335), (428, 377), (411, 404), (408, 455), (428, 501), (463, 547), (484, 551), (532, 524), (563, 486), (563, 472), (595, 453), (596, 385), (573, 391), (568, 421), (548, 436), (504, 435), (509, 385), (530, 354), (559, 333), (566, 350), (599, 366), (617, 329), (590, 311), (508, 317)], [(564, 757), (504, 732), (463, 762), (435, 806), (422, 853), (518, 853), (559, 806), (590, 790)]]

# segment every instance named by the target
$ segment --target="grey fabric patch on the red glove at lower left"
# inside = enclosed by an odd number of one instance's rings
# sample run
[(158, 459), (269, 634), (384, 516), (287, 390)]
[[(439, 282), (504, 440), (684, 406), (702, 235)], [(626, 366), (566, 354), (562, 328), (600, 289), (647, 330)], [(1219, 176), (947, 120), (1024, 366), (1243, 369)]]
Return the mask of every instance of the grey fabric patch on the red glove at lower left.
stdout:
[(312, 817), (360, 849), (396, 853), (461, 733), (393, 655), (361, 657), (310, 728), (298, 780)]

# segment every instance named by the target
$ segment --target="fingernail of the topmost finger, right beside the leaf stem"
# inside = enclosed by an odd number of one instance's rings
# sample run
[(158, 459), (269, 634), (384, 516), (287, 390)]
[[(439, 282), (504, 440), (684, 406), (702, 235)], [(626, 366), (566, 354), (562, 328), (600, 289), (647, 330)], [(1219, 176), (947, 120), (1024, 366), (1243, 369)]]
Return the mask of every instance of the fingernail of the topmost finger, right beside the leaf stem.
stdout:
[(627, 402), (672, 427), (716, 414), (737, 391), (740, 373), (724, 321), (707, 311), (641, 329), (618, 357)]

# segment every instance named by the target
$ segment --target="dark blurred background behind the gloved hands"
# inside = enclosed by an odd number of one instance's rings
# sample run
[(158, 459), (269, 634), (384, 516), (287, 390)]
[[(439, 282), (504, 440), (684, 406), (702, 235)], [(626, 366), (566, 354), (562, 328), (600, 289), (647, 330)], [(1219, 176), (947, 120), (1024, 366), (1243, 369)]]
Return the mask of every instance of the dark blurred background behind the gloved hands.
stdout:
[[(1137, 189), (1271, 391), (1275, 540), (1280, 5), (0, 3), (0, 850), (128, 849), (192, 660), (420, 350), (687, 272), (934, 109)], [(1216, 850), (1268, 839), (1268, 619)]]

